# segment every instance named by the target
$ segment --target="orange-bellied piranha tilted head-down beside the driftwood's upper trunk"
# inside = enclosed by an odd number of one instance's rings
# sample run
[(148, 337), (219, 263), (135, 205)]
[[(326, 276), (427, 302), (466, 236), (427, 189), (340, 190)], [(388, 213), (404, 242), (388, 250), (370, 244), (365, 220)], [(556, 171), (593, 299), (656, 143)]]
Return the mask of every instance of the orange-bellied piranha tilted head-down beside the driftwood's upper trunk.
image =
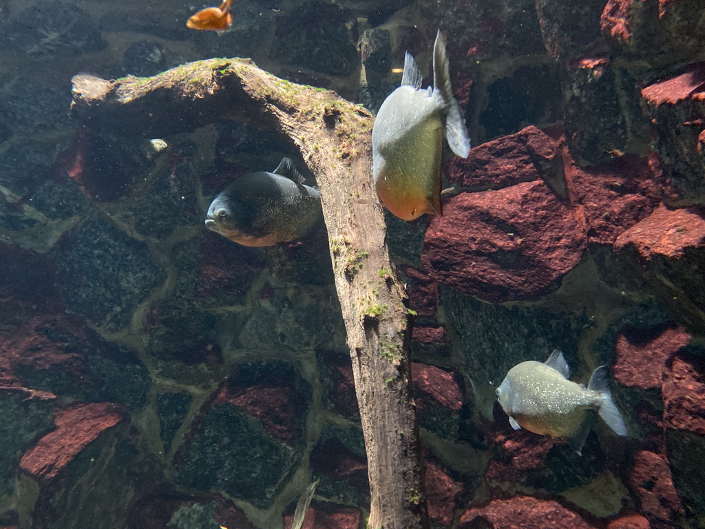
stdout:
[(372, 128), (372, 175), (379, 200), (407, 221), (424, 213), (443, 214), (441, 161), (443, 136), (450, 149), (467, 158), (470, 139), (450, 85), (446, 39), (434, 44), (434, 86), (421, 89), (422, 75), (406, 54), (401, 86), (379, 107)]

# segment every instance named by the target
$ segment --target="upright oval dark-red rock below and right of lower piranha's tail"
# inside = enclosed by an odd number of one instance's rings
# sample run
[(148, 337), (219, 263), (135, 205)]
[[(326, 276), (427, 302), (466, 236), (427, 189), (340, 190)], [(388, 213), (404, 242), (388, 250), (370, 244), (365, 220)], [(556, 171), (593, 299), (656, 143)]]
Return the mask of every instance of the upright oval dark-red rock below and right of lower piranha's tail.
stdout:
[(630, 485), (639, 500), (639, 511), (649, 518), (670, 521), (680, 512), (680, 499), (673, 486), (670, 468), (658, 454), (646, 450), (635, 454)]

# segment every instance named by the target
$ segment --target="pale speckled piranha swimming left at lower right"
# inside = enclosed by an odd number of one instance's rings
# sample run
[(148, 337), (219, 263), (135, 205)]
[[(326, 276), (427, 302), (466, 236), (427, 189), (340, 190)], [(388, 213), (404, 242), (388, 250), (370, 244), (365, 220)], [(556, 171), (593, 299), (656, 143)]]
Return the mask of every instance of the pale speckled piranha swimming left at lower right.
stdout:
[(512, 367), (497, 388), (497, 397), (515, 430), (568, 440), (577, 454), (589, 433), (586, 414), (596, 410), (618, 435), (627, 427), (609, 389), (607, 367), (597, 367), (587, 388), (568, 380), (570, 367), (556, 349), (545, 363), (529, 360)]

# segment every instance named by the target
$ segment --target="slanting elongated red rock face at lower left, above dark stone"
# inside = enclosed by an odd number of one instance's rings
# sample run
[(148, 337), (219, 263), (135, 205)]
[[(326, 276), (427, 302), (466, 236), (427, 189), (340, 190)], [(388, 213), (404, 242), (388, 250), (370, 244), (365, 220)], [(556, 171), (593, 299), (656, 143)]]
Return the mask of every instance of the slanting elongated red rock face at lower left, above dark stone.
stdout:
[(102, 432), (122, 420), (120, 406), (109, 402), (82, 404), (56, 411), (56, 430), (49, 432), (28, 450), (20, 460), (20, 468), (43, 481), (56, 478), (68, 463)]

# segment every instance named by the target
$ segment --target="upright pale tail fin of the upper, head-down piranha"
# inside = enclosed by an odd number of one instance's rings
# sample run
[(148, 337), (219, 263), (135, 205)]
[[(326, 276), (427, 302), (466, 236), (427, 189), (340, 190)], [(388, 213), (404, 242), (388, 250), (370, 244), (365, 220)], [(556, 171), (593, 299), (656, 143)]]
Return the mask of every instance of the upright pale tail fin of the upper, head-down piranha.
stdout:
[[(406, 73), (406, 66), (404, 68)], [(446, 140), (450, 150), (458, 156), (467, 158), (470, 152), (470, 138), (467, 136), (465, 119), (462, 117), (460, 105), (455, 100), (453, 85), (450, 83), (450, 66), (446, 54), (446, 37), (439, 30), (434, 44), (434, 91), (438, 90), (443, 99), (446, 112)]]

